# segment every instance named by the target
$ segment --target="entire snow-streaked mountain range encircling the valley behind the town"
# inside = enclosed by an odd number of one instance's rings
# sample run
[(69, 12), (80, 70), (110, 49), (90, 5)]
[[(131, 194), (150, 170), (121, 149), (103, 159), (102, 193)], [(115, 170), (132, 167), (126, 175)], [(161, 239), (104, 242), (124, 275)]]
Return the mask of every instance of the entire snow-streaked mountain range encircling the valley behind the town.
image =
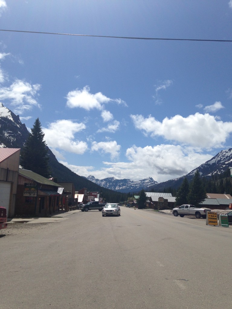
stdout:
[[(28, 138), (28, 134), (28, 129), (25, 124), (21, 123), (19, 116), (16, 116), (0, 103), (0, 147), (22, 148)], [(209, 177), (216, 174), (219, 175), (227, 171), (228, 168), (232, 168), (232, 148), (230, 148), (228, 150), (221, 150), (212, 159), (201, 164), (187, 175), (161, 183), (157, 183), (151, 177), (142, 180), (118, 180), (114, 177), (96, 179), (91, 175), (84, 177), (75, 174), (69, 168), (59, 163), (49, 148), (48, 154), (50, 157), (51, 176), (56, 177), (58, 182), (72, 182), (76, 190), (87, 188), (89, 191), (105, 192), (105, 194), (112, 194), (113, 191), (114, 193), (136, 193), (142, 188), (147, 191), (154, 189), (157, 192), (162, 192), (170, 187), (178, 188), (185, 177), (191, 180), (197, 169), (202, 177)]]

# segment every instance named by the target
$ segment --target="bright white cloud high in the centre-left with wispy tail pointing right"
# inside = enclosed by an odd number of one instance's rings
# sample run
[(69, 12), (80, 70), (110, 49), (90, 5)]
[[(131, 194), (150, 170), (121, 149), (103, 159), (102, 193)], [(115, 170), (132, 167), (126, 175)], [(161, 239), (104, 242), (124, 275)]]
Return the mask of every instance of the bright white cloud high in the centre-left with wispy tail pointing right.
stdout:
[(97, 92), (95, 94), (90, 93), (90, 88), (85, 86), (81, 90), (73, 90), (67, 94), (67, 106), (69, 108), (84, 108), (87, 111), (97, 108), (102, 110), (104, 108), (104, 104), (109, 102), (116, 102), (118, 104), (124, 103), (121, 99), (110, 99), (103, 95), (101, 92)]

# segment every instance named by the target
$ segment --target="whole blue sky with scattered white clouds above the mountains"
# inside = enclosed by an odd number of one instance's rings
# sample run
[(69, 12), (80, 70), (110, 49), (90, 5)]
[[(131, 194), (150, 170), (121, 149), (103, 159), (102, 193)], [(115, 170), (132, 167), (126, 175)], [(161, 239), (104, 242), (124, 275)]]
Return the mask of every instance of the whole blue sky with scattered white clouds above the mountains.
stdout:
[(0, 24), (0, 102), (78, 175), (163, 182), (232, 147), (232, 42), (210, 41), (232, 0), (0, 0)]

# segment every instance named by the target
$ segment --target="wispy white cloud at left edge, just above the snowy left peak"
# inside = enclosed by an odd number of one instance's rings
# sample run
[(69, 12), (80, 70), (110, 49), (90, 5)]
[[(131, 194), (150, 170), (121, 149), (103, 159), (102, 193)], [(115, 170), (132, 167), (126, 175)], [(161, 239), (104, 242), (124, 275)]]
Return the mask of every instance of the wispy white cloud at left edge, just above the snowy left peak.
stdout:
[(40, 90), (41, 85), (25, 82), (24, 80), (15, 80), (10, 87), (0, 88), (0, 100), (9, 100), (12, 106), (15, 106), (14, 112), (22, 114), (25, 110), (31, 110), (32, 106), (38, 106), (34, 96)]

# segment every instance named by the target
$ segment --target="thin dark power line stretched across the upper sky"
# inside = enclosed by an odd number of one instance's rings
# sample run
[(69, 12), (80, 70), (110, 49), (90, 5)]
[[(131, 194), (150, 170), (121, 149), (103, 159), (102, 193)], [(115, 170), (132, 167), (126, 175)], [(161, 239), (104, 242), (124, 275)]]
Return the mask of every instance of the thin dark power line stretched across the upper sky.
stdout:
[(6, 29), (0, 29), (0, 31), (24, 32), (24, 33), (40, 33), (40, 34), (58, 34), (58, 35), (63, 35), (63, 36), (92, 36), (92, 37), (100, 37), (100, 38), (132, 39), (132, 40), (166, 40), (166, 41), (232, 42), (232, 40), (171, 39), (171, 38), (147, 38), (147, 37), (133, 37), (133, 36), (97, 36), (97, 35), (91, 35), (91, 34), (74, 34), (74, 33), (58, 33), (58, 32), (39, 32), (39, 31), (6, 30)]

